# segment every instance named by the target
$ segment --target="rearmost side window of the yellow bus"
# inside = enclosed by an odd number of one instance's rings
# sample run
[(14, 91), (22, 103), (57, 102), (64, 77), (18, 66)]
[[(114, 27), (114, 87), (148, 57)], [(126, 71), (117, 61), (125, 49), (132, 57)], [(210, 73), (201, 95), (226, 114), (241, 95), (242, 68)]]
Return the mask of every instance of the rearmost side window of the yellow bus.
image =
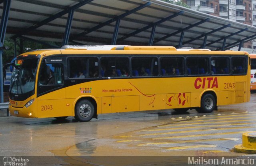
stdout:
[(232, 57), (231, 58), (232, 74), (246, 74), (247, 63), (245, 57)]

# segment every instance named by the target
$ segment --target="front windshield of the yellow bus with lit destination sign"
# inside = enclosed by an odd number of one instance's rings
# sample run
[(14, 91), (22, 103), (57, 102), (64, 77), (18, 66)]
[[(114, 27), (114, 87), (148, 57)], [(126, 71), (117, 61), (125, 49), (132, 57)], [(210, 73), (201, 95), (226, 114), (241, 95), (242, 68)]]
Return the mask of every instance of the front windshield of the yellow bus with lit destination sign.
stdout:
[(17, 59), (12, 72), (10, 92), (25, 94), (34, 90), (38, 58)]

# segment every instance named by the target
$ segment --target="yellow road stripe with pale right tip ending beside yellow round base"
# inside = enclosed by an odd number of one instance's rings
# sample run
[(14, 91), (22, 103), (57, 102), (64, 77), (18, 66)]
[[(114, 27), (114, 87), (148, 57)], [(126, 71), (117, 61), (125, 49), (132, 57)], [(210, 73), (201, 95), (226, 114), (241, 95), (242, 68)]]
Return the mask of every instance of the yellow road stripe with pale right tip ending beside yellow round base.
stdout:
[(223, 140), (237, 141), (237, 140), (240, 140), (240, 138), (213, 138), (213, 139), (184, 140), (184, 141), (172, 141), (172, 142), (152, 142), (152, 143), (146, 143), (146, 144), (138, 144), (138, 146), (145, 146), (145, 145), (164, 145), (164, 144), (181, 144), (181, 143), (208, 142), (208, 141), (223, 141)]

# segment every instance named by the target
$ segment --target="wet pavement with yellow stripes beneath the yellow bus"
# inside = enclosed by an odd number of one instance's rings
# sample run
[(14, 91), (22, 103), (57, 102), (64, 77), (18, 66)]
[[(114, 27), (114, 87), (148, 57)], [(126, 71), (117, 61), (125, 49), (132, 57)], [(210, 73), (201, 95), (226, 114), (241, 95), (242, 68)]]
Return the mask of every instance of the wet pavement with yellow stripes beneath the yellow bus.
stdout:
[(88, 162), (79, 156), (244, 156), (232, 148), (242, 143), (243, 132), (256, 130), (255, 105), (252, 94), (249, 103), (219, 106), (210, 114), (128, 112), (90, 122), (0, 117), (0, 156), (63, 156), (55, 164), (64, 165), (111, 165), (104, 157)]

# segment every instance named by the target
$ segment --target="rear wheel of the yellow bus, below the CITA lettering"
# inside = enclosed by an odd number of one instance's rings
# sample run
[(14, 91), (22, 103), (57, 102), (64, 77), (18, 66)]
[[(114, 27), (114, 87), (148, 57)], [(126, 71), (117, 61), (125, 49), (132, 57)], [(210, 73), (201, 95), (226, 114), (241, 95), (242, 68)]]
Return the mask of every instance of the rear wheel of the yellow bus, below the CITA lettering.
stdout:
[(196, 110), (200, 113), (210, 113), (214, 108), (216, 108), (216, 99), (208, 93), (201, 98), (201, 107)]

